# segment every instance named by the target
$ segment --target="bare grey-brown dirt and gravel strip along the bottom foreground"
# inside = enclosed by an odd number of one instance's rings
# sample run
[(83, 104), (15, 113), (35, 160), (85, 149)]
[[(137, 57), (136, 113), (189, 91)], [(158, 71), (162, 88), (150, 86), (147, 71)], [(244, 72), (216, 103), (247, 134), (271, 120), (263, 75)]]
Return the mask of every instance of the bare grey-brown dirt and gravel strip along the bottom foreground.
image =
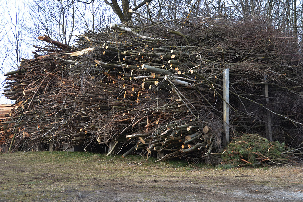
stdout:
[(94, 193), (82, 193), (77, 199), (95, 201), (303, 201), (297, 187), (205, 186), (201, 184), (157, 182), (143, 185), (115, 185)]

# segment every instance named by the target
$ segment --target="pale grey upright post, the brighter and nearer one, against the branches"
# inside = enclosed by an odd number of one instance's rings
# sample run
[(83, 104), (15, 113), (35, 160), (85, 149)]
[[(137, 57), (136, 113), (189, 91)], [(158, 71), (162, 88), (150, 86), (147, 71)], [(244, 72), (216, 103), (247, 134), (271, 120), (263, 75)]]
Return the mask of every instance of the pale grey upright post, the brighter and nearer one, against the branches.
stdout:
[(224, 146), (229, 143), (229, 69), (223, 74), (223, 125), (225, 131)]

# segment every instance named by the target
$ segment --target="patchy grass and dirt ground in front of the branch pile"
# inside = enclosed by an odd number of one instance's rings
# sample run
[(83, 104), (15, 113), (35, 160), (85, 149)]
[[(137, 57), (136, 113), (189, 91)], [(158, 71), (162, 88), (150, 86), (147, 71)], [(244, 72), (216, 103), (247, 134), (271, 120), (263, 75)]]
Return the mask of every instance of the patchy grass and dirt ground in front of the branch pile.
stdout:
[(302, 169), (220, 169), (84, 152), (0, 155), (0, 201), (303, 201)]

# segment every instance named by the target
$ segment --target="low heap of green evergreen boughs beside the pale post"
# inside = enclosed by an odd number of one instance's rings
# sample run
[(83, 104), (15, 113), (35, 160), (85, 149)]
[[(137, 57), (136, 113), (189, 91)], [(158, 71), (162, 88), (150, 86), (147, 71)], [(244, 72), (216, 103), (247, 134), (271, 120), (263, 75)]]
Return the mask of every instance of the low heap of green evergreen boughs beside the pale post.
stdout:
[(285, 163), (288, 158), (284, 143), (270, 142), (258, 134), (243, 134), (228, 144), (222, 164), (257, 167)]

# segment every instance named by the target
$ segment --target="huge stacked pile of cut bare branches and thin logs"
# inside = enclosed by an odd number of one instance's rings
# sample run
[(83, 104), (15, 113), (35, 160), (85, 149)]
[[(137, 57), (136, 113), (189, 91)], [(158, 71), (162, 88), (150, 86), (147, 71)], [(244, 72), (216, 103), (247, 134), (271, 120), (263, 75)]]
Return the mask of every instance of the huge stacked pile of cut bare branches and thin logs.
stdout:
[(221, 147), (224, 68), (232, 130), (265, 136), (270, 117), (274, 140), (303, 139), (301, 46), (264, 22), (111, 24), (79, 36), (75, 47), (39, 39), (49, 45), (6, 74), (5, 96), (22, 103), (18, 133), (30, 135), (15, 150), (118, 142), (123, 157), (200, 161)]

